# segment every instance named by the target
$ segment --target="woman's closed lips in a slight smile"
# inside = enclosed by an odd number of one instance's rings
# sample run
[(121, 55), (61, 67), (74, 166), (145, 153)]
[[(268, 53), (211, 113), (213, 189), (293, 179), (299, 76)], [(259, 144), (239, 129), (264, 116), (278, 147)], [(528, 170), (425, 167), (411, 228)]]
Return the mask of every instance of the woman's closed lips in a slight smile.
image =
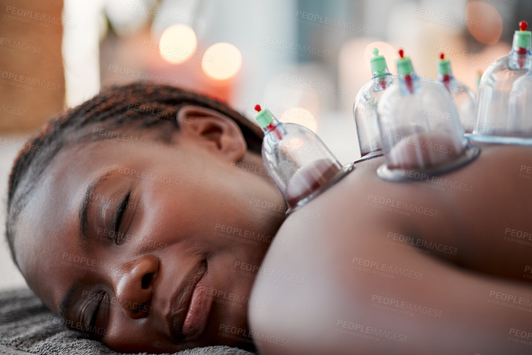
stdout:
[(189, 340), (201, 335), (209, 321), (212, 299), (206, 297), (206, 264), (201, 263), (180, 285), (171, 301), (169, 315), (174, 340)]

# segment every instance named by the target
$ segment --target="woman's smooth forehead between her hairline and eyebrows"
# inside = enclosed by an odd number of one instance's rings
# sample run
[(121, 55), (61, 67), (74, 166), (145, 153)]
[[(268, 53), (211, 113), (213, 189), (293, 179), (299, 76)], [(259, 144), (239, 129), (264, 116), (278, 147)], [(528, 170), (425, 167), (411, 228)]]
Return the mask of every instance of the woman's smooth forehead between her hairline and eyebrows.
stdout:
[(104, 174), (113, 159), (128, 150), (84, 144), (68, 147), (52, 160), (16, 221), (14, 249), (29, 286), (56, 310), (79, 270), (64, 256), (80, 257), (79, 208), (86, 188)]

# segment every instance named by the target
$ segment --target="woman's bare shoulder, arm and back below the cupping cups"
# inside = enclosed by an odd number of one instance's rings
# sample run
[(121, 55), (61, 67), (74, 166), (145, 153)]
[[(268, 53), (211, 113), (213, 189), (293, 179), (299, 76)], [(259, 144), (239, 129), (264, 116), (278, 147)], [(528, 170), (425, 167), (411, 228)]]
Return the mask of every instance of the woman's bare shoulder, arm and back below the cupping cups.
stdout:
[(480, 147), (443, 184), (390, 183), (384, 157), (361, 162), (288, 218), (259, 273), (305, 281), (255, 283), (271, 308), (250, 307), (250, 325), (276, 340), (261, 353), (529, 354), (532, 237), (516, 231), (532, 230), (532, 148)]

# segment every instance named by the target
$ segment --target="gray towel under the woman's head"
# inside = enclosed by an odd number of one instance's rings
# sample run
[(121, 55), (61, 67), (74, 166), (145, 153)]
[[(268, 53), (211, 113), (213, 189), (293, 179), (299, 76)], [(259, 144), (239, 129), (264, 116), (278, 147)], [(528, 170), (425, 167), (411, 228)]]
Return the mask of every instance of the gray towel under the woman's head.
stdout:
[[(27, 288), (0, 292), (0, 353), (28, 354), (121, 354), (84, 334), (71, 331), (51, 317), (43, 302)], [(143, 353), (144, 355), (146, 353)], [(208, 346), (174, 355), (253, 355), (229, 346)]]

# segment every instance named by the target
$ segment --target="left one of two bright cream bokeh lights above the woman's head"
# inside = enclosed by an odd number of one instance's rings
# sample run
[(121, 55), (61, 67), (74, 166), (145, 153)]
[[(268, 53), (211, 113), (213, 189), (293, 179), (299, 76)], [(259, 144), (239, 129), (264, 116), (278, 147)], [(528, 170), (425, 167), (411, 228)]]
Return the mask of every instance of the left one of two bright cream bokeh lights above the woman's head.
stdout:
[(184, 24), (173, 24), (164, 30), (159, 46), (159, 53), (165, 61), (172, 64), (182, 63), (196, 51), (196, 34)]

